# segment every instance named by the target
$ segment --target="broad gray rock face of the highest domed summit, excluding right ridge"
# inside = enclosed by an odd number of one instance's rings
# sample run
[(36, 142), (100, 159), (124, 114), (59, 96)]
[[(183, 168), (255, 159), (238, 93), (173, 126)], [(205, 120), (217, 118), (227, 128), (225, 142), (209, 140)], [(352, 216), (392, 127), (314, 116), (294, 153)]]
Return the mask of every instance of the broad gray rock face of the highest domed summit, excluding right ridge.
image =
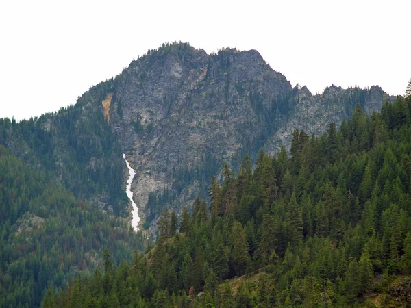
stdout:
[(189, 203), (201, 192), (195, 181), (210, 177), (202, 172), (256, 147), (267, 131), (264, 113), (290, 90), (254, 50), (208, 55), (175, 44), (132, 62), (115, 80), (110, 121), (136, 170), (134, 201), (154, 219), (149, 194), (181, 194), (175, 184), (192, 177), (183, 181), (185, 197), (175, 198), (180, 206)]

